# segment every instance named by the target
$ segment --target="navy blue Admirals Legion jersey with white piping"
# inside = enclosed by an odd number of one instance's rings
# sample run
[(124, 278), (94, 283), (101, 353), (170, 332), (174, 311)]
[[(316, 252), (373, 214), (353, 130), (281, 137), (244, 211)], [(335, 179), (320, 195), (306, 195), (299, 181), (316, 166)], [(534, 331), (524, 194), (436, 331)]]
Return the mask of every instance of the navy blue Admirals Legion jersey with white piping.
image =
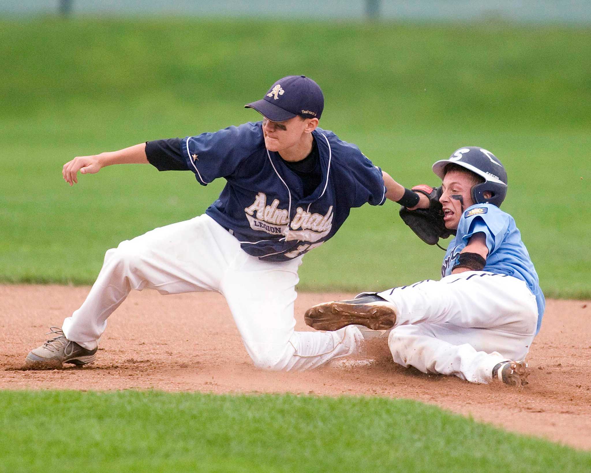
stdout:
[(335, 235), (351, 208), (385, 202), (382, 171), (358, 147), (332, 131), (316, 128), (312, 135), (322, 180), (311, 193), (278, 153), (265, 148), (262, 122), (180, 140), (181, 157), (197, 182), (226, 179), (206, 213), (248, 254), (290, 260)]

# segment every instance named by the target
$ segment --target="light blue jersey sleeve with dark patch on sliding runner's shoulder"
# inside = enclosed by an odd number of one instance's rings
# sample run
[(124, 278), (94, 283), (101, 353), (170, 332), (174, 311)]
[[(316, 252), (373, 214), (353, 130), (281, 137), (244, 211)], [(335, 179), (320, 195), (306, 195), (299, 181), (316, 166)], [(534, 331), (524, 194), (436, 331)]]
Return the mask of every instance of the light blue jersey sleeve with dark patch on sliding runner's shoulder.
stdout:
[(482, 232), (486, 237), (488, 254), (491, 255), (505, 239), (509, 222), (508, 213), (503, 212), (497, 206), (476, 204), (464, 210), (457, 234), (462, 235), (462, 240), (467, 245), (472, 235)]

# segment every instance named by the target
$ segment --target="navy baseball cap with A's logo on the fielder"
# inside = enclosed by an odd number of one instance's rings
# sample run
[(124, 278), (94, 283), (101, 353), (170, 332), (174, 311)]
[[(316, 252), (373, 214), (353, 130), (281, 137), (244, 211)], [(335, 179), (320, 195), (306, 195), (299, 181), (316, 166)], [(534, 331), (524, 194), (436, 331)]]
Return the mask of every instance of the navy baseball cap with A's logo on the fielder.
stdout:
[(254, 108), (272, 122), (282, 122), (296, 115), (320, 118), (324, 109), (324, 95), (310, 77), (287, 76), (273, 84), (265, 96), (244, 108)]

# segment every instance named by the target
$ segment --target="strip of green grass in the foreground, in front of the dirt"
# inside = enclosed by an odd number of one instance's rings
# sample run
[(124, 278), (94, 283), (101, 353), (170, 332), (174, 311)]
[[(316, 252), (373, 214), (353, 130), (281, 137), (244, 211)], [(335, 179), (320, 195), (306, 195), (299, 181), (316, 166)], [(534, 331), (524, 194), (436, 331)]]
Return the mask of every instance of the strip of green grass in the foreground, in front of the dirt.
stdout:
[(0, 431), (11, 473), (591, 470), (589, 452), (410, 400), (0, 391)]

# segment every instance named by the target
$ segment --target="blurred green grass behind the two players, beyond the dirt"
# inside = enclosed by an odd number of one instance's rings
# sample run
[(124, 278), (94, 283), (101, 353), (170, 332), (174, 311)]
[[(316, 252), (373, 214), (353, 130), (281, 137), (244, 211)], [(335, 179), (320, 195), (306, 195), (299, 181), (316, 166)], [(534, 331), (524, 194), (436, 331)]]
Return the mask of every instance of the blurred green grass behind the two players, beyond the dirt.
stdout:
[[(460, 146), (495, 153), (544, 293), (591, 298), (589, 27), (28, 18), (0, 21), (0, 61), (0, 281), (90, 284), (108, 248), (203, 213), (224, 185), (115, 166), (70, 188), (66, 161), (257, 121), (244, 103), (306, 74), (320, 126), (402, 184), (437, 184), (431, 164)], [(364, 206), (306, 255), (298, 289), (437, 278), (443, 255), (397, 205)]]

